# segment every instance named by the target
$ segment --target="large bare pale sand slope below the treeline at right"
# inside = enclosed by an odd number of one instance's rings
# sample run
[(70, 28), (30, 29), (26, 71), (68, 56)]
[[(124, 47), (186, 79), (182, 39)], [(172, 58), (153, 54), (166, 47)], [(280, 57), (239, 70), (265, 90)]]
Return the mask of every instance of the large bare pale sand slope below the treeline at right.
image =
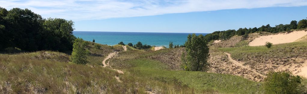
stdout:
[(291, 43), (305, 35), (307, 35), (307, 31), (293, 31), (291, 33), (280, 33), (276, 35), (260, 36), (251, 41), (249, 43), (249, 46), (261, 46), (265, 45), (266, 42), (270, 42), (273, 44)]

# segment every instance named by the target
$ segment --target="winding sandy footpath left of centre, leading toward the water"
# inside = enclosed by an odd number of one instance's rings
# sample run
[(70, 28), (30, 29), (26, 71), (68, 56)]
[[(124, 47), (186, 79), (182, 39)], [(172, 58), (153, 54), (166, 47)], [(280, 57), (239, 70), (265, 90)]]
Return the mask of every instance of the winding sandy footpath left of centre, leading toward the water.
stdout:
[[(126, 47), (126, 46), (122, 46), (122, 48), (124, 49), (124, 51), (127, 51), (127, 47)], [(103, 67), (109, 67), (109, 69), (112, 69), (112, 70), (114, 70), (114, 71), (116, 71), (116, 72), (118, 72), (118, 73), (120, 73), (120, 74), (124, 74), (124, 72), (123, 72), (122, 70), (114, 69), (114, 68), (112, 68), (112, 67), (109, 65), (110, 60), (108, 60), (108, 59), (114, 58), (118, 53), (119, 53), (119, 51), (114, 51), (114, 52), (110, 53), (105, 59), (103, 59), (102, 64), (103, 64)], [(107, 60), (108, 60), (108, 61), (107, 61)], [(106, 63), (106, 61), (107, 61), (107, 63)], [(120, 82), (120, 83), (122, 82), (122, 81), (119, 79), (118, 76), (115, 76), (115, 79), (116, 79), (118, 82)], [(145, 91), (145, 92), (147, 92), (147, 93), (149, 93), (149, 94), (156, 94), (156, 93), (151, 92), (151, 91)]]

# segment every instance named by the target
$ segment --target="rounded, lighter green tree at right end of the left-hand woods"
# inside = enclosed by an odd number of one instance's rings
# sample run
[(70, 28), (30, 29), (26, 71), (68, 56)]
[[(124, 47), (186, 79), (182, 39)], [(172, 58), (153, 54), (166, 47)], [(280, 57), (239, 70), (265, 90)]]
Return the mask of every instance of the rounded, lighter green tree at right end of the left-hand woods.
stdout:
[(73, 41), (76, 39), (76, 37), (72, 35), (72, 31), (74, 30), (74, 23), (72, 20), (48, 18), (43, 26), (45, 29), (45, 31), (42, 32), (44, 43), (48, 45), (41, 45), (41, 49), (58, 51), (72, 50)]

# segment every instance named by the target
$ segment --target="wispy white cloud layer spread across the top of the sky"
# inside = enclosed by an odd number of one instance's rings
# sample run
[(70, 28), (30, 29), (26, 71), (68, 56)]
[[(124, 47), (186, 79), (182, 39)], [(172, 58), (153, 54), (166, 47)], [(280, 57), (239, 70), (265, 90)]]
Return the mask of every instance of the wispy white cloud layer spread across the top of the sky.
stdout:
[(0, 0), (44, 18), (94, 20), (240, 8), (307, 6), (307, 0)]

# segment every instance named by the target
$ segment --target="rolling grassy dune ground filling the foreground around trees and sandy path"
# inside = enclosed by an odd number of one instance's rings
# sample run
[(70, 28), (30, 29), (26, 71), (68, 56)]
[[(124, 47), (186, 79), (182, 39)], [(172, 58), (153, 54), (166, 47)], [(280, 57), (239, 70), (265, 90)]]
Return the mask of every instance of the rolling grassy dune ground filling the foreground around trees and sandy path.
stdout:
[[(211, 73), (180, 70), (178, 56), (182, 48), (151, 51), (127, 47), (128, 51), (123, 51), (121, 45), (88, 42), (91, 54), (86, 65), (68, 63), (68, 54), (55, 51), (0, 54), (0, 93), (262, 94), (262, 82), (253, 81), (253, 74), (232, 65), (223, 52), (265, 74), (269, 71), (265, 69), (301, 64), (299, 60), (306, 59), (306, 44), (278, 44), (270, 49), (211, 48)], [(121, 52), (110, 60), (110, 65), (124, 74), (102, 67), (103, 59), (113, 51)], [(271, 66), (264, 66), (267, 61)]]

